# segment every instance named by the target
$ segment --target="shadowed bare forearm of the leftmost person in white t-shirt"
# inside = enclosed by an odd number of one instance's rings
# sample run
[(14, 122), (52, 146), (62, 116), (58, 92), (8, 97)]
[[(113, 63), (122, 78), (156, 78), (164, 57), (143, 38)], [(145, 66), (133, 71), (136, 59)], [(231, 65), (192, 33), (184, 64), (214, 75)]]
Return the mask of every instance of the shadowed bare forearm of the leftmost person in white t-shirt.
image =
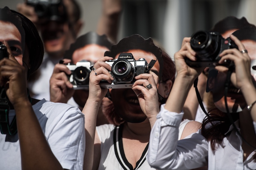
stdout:
[(14, 106), (22, 169), (63, 169), (49, 147), (28, 100)]

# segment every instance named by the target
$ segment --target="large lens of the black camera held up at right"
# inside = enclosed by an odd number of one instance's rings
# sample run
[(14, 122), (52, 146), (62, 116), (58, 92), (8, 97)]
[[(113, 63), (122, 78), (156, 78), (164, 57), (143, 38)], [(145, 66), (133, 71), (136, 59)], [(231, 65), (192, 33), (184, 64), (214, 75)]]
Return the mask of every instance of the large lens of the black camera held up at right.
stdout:
[(191, 48), (196, 52), (197, 57), (202, 61), (213, 61), (213, 56), (218, 51), (219, 36), (217, 33), (197, 31), (191, 36)]

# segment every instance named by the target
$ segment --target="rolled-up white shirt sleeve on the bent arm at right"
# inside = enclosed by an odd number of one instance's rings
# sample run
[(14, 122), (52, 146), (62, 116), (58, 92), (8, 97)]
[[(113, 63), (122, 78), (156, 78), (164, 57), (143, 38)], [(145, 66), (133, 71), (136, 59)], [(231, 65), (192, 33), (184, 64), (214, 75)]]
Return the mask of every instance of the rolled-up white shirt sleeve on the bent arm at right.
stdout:
[(152, 167), (192, 169), (207, 164), (208, 144), (202, 135), (196, 133), (191, 138), (178, 141), (182, 116), (182, 113), (168, 112), (162, 106), (150, 134), (147, 160)]

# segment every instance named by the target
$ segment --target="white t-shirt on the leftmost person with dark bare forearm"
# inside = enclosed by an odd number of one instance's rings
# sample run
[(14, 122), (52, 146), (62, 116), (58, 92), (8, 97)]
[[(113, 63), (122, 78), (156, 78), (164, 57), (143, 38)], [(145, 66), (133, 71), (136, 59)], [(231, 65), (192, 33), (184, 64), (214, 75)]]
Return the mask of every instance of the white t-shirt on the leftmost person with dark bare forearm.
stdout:
[[(85, 152), (85, 118), (82, 112), (72, 105), (45, 99), (32, 107), (51, 151), (63, 169), (81, 170)], [(10, 110), (10, 122), (14, 115), (15, 111)], [(21, 169), (18, 134), (0, 134), (0, 169)]]

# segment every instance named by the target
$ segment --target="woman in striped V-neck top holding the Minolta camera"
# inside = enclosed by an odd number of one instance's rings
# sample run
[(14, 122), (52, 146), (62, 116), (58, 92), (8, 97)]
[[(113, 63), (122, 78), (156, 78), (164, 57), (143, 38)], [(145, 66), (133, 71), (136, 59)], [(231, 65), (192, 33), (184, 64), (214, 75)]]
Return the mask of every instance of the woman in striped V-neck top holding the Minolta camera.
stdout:
[[(125, 62), (121, 58), (127, 56), (118, 58), (123, 53), (129, 53), (128, 57), (132, 54), (134, 59)], [(145, 68), (152, 67), (149, 72), (137, 75), (127, 69), (129, 63), (142, 66), (142, 58), (147, 61)], [(115, 67), (111, 68), (109, 63), (113, 59), (117, 59), (114, 63), (120, 64), (113, 64)], [(152, 60), (156, 61), (153, 66), (150, 64)], [(82, 110), (86, 120), (84, 163), (87, 169), (154, 169), (146, 161), (149, 134), (160, 104), (165, 103), (169, 95), (175, 76), (174, 68), (171, 58), (162, 53), (151, 38), (144, 39), (140, 35), (120, 40), (94, 64), (90, 73), (89, 97)], [(118, 80), (109, 72), (113, 69), (119, 72)], [(128, 82), (132, 87), (127, 88), (125, 82), (131, 76), (135, 76), (132, 82)], [(120, 82), (122, 80), (124, 83)], [(106, 81), (112, 86), (110, 93), (107, 93)], [(96, 116), (106, 94), (113, 102), (105, 106), (107, 109), (104, 112), (111, 124), (96, 127)], [(194, 123), (184, 123), (181, 138), (188, 135), (186, 133), (197, 131), (199, 125)]]

